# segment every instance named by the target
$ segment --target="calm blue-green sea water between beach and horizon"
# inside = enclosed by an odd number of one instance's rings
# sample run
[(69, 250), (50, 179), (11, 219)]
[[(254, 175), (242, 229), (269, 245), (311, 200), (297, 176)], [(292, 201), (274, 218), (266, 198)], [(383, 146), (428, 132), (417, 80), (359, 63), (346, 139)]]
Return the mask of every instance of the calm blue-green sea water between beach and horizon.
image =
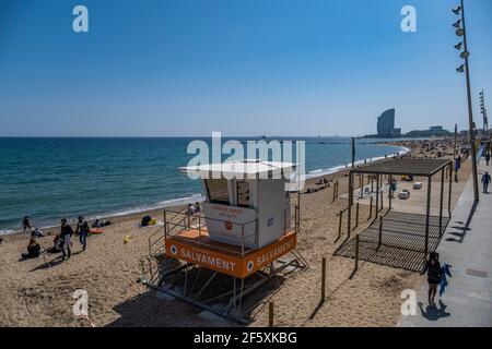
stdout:
[[(311, 176), (350, 161), (350, 139), (302, 140)], [(24, 215), (44, 227), (80, 214), (122, 215), (196, 201), (200, 183), (178, 171), (194, 156), (186, 152), (190, 141), (0, 137), (0, 233), (19, 230)], [(359, 141), (359, 160), (401, 151), (374, 142)]]

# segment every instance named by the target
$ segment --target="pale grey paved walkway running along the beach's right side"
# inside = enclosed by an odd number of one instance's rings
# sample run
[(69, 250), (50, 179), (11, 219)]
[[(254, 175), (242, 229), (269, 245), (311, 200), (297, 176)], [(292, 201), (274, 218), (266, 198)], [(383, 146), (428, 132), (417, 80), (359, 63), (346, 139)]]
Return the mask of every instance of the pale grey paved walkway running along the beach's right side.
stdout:
[[(479, 181), (492, 167), (479, 164)], [(492, 188), (490, 189), (492, 191)], [(481, 185), (480, 185), (481, 191)], [(453, 277), (436, 306), (427, 305), (427, 285), (418, 290), (417, 315), (402, 316), (398, 326), (492, 326), (492, 193), (481, 194), (473, 207), (470, 177), (453, 212), (440, 246), (441, 263)]]

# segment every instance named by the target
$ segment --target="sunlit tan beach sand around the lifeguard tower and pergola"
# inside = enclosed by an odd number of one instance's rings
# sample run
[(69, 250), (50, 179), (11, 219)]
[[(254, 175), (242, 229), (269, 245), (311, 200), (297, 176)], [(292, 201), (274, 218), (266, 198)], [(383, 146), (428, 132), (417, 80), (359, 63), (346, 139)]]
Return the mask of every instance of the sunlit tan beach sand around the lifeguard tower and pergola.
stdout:
[[(448, 141), (405, 141), (414, 156), (436, 156), (441, 144), (446, 157), (453, 155)], [(422, 153), (421, 153), (422, 152)], [(470, 173), (470, 161), (464, 163), (459, 184), (454, 185), (453, 205)], [(347, 193), (347, 171), (326, 176), (340, 182), (340, 194)], [(308, 186), (316, 186), (314, 179)], [(454, 183), (455, 184), (455, 183)], [(413, 195), (413, 193), (412, 193)], [(333, 203), (332, 185), (316, 193), (303, 194), (301, 232), (297, 251), (309, 268), (283, 280), (268, 300), (274, 302), (277, 326), (393, 326), (400, 318), (400, 293), (417, 288), (424, 277), (417, 273), (361, 262), (352, 279), (354, 261), (333, 256), (341, 242), (338, 236), (338, 212), (347, 207), (347, 198)], [(400, 203), (399, 203), (400, 204)], [(405, 209), (405, 203), (401, 203)], [(415, 203), (408, 204), (414, 206)], [(27, 238), (22, 233), (3, 237), (0, 245), (0, 325), (1, 326), (236, 326), (209, 316), (202, 310), (179, 300), (160, 297), (137, 282), (142, 258), (148, 256), (148, 239), (159, 227), (138, 228), (144, 215), (162, 220), (162, 210), (114, 217), (115, 225), (101, 236), (89, 238), (89, 250), (82, 252), (75, 237), (73, 256), (61, 262), (58, 255), (20, 261)], [(368, 207), (361, 205), (361, 217)], [(362, 219), (365, 220), (365, 219)], [(362, 222), (352, 234), (362, 231)], [(39, 239), (42, 248), (52, 244), (51, 234)], [(128, 243), (125, 237), (130, 236)], [(327, 258), (327, 298), (320, 298), (321, 258)], [(87, 318), (72, 313), (72, 293), (84, 289), (89, 296)], [(251, 326), (268, 325), (268, 306), (254, 311)]]

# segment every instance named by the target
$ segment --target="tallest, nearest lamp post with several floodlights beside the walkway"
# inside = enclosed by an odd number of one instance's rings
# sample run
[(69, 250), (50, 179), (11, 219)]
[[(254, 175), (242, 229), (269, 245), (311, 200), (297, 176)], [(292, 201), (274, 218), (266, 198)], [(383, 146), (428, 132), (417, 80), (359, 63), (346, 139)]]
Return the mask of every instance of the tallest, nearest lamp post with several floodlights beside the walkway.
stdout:
[(468, 63), (468, 57), (470, 56), (467, 46), (467, 32), (465, 26), (465, 7), (464, 0), (461, 0), (461, 5), (453, 9), (453, 13), (459, 15), (461, 13), (461, 19), (459, 19), (453, 26), (456, 28), (456, 35), (462, 36), (462, 43), (455, 45), (455, 48), (461, 50), (461, 44), (464, 50), (459, 55), (464, 60), (465, 64), (461, 64), (456, 71), (459, 73), (466, 72), (466, 81), (467, 81), (467, 97), (468, 97), (468, 123), (469, 123), (469, 140), (471, 146), (471, 167), (472, 167), (472, 176), (473, 176), (473, 197), (475, 201), (478, 202), (479, 198), (479, 190), (478, 190), (478, 173), (477, 173), (477, 152), (475, 148), (475, 123), (473, 123), (473, 108), (471, 105), (471, 87), (470, 87), (470, 65)]

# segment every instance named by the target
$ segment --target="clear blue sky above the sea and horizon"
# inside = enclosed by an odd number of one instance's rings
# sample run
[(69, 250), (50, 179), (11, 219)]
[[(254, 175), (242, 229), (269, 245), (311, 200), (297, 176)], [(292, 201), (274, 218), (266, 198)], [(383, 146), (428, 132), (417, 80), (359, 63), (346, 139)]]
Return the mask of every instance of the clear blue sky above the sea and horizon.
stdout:
[[(0, 0), (0, 136), (358, 135), (466, 127), (458, 0)], [(90, 33), (72, 31), (89, 8)], [(417, 8), (418, 33), (400, 31)], [(476, 120), (492, 1), (468, 0)]]

